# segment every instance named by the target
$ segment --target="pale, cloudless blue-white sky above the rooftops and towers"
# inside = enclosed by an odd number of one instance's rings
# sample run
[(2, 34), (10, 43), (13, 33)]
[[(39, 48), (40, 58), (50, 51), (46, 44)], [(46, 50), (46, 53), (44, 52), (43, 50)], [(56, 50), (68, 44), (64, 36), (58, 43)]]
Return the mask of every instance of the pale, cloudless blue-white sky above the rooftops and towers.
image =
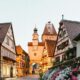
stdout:
[(38, 28), (39, 40), (45, 24), (51, 21), (56, 31), (64, 19), (80, 21), (80, 0), (0, 0), (0, 23), (11, 22), (16, 45), (28, 52), (33, 29)]

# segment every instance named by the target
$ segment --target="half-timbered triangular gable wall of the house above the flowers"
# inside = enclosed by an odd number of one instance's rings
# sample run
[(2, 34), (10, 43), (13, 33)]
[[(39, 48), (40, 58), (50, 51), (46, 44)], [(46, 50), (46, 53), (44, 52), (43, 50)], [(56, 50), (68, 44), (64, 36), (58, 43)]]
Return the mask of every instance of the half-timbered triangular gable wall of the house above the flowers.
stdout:
[(68, 48), (73, 47), (71, 38), (69, 36), (68, 30), (66, 27), (67, 26), (65, 24), (60, 24), (58, 36), (57, 36), (55, 55), (62, 54), (66, 50), (68, 50)]

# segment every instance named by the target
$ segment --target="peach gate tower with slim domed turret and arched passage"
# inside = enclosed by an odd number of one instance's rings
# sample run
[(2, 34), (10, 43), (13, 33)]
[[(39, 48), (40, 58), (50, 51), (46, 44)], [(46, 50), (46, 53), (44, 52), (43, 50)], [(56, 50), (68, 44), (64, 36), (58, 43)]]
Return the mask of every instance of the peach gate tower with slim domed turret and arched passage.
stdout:
[(42, 53), (44, 50), (44, 43), (39, 42), (39, 35), (37, 28), (33, 30), (32, 42), (28, 42), (28, 53), (30, 57), (30, 73), (39, 73), (42, 66)]

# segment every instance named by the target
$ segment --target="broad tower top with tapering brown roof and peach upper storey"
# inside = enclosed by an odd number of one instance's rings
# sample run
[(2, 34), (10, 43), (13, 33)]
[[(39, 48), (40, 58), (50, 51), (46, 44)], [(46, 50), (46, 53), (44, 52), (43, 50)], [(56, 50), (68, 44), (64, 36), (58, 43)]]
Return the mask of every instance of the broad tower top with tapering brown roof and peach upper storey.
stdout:
[(54, 28), (54, 25), (48, 21), (48, 23), (45, 25), (43, 34), (42, 34), (42, 41), (45, 42), (46, 40), (56, 40), (57, 38), (57, 33)]

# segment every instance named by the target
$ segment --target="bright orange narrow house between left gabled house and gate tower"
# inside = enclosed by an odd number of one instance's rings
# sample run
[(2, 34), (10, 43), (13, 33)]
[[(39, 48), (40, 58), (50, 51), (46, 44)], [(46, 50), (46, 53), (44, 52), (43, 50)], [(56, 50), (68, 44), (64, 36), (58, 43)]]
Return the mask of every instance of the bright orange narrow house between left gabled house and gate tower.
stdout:
[(16, 46), (16, 51), (17, 77), (24, 77), (29, 74), (29, 55), (22, 49), (20, 45)]

